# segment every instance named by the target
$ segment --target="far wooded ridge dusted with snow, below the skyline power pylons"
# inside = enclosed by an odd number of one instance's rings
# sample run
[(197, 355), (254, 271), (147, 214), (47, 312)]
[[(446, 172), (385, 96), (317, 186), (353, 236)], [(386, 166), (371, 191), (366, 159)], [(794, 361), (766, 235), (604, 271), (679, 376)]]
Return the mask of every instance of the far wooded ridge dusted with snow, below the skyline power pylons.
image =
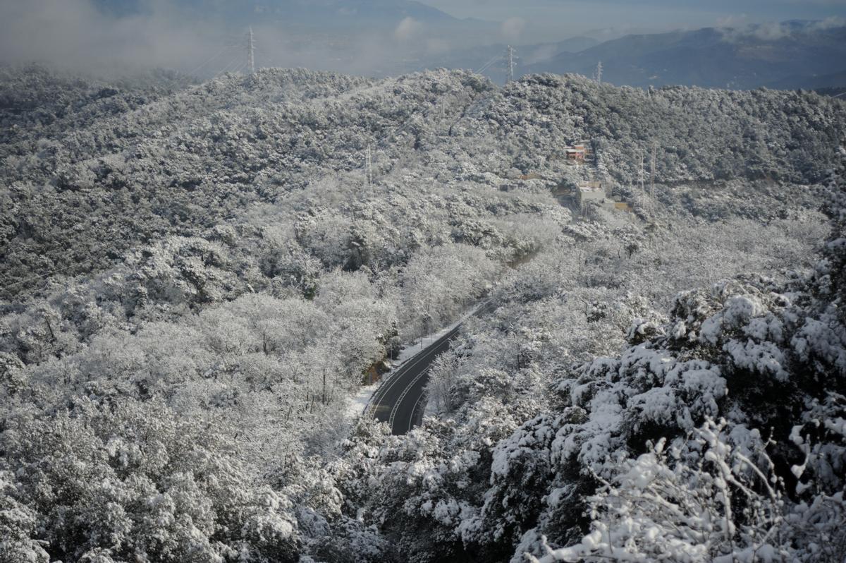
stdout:
[(645, 93), (574, 76), (495, 91), (462, 72), (371, 81), (264, 70), (184, 89), (170, 77), (139, 89), (7, 73), (0, 232), (14, 255), (2, 279), (13, 293), (21, 279), (105, 268), (139, 243), (352, 173), (368, 143), (379, 174), (443, 152), (443, 178), (516, 168), (558, 181), (562, 147), (586, 137), (623, 187), (653, 143), (662, 183), (809, 184), (830, 168), (843, 130), (840, 103), (814, 94)]

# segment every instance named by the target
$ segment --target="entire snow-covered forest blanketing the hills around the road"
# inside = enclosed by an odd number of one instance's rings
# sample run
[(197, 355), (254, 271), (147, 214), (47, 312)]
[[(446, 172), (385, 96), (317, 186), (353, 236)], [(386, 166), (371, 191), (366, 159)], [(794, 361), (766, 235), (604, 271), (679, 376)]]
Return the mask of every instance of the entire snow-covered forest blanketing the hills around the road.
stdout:
[[(0, 69), (0, 561), (842, 563), (844, 140), (805, 91)], [(481, 299), (420, 428), (344, 414)]]

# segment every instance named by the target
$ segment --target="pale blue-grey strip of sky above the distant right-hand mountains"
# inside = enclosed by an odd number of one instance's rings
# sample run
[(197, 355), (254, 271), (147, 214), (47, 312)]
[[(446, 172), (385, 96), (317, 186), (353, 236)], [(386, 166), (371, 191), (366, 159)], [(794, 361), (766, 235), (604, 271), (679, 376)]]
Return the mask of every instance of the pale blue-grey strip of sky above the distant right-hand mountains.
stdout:
[(846, 0), (423, 0), (459, 18), (527, 25), (549, 36), (605, 28), (660, 31), (786, 19), (846, 18)]

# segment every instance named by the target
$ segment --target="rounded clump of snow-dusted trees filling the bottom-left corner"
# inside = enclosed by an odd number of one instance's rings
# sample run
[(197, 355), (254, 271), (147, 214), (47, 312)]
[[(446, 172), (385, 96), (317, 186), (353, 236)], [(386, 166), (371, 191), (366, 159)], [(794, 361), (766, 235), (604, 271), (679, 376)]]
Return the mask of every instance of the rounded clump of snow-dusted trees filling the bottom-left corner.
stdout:
[(296, 560), (293, 506), (252, 483), (222, 436), (157, 403), (90, 391), (96, 399), (5, 421), (14, 527), (3, 549), (33, 561), (40, 546), (74, 561)]

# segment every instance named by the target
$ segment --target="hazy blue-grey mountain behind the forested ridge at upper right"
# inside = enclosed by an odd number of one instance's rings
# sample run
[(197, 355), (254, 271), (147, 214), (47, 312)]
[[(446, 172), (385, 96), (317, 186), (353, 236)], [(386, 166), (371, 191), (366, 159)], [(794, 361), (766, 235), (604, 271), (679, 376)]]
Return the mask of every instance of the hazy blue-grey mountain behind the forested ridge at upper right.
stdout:
[(591, 75), (602, 61), (604, 79), (615, 84), (795, 88), (814, 87), (811, 77), (842, 71), (843, 60), (846, 27), (790, 21), (624, 36), (578, 53), (560, 52), (522, 72)]

